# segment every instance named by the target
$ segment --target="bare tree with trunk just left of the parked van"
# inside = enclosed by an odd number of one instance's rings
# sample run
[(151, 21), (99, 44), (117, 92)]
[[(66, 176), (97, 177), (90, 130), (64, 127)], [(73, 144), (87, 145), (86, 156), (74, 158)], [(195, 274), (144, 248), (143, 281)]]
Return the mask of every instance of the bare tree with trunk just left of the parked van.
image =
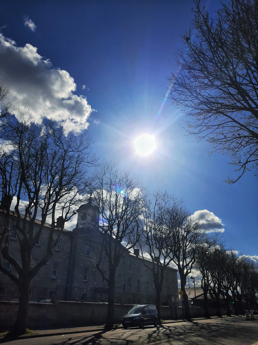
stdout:
[[(130, 171), (110, 161), (104, 161), (93, 178), (92, 200), (100, 208), (100, 228), (104, 234), (96, 267), (109, 288), (105, 328), (111, 329), (114, 325), (116, 268), (122, 255), (139, 241), (143, 188)], [(108, 277), (101, 268), (103, 250), (109, 263)]]

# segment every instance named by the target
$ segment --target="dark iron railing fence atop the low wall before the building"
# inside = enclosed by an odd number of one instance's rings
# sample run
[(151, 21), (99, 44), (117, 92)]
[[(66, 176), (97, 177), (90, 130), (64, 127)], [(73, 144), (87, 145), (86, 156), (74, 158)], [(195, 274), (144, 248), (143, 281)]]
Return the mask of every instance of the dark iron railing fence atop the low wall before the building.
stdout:
[[(107, 303), (107, 289), (89, 287), (30, 286), (30, 303), (52, 303), (54, 300)], [(0, 283), (0, 300), (19, 302), (19, 290), (15, 284)], [(115, 292), (116, 304), (155, 304), (156, 296), (135, 292)]]

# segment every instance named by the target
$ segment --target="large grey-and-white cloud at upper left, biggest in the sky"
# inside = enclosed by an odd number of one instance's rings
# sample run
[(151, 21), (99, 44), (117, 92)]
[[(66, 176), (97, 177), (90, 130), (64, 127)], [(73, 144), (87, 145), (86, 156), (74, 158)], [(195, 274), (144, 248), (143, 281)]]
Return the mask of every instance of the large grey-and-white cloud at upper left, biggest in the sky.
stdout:
[(35, 121), (41, 122), (42, 117), (61, 120), (75, 132), (88, 127), (92, 108), (84, 96), (74, 94), (74, 79), (53, 67), (36, 47), (28, 43), (17, 47), (0, 33), (0, 76), (9, 87), (8, 100), (16, 107), (29, 102)]

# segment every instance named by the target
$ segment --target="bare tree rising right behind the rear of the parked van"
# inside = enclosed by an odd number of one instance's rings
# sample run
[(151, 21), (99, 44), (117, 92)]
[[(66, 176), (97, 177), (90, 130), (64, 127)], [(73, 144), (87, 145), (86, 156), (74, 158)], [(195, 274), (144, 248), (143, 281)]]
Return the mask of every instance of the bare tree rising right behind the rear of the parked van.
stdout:
[[(169, 247), (172, 229), (167, 227), (167, 210), (173, 209), (178, 204), (174, 196), (169, 195), (162, 187), (157, 188), (152, 200), (144, 202), (144, 227), (141, 231), (141, 251), (147, 252), (152, 260), (152, 273), (156, 290), (158, 319), (161, 321), (161, 292), (164, 271), (173, 259)], [(144, 265), (149, 268), (150, 264)]]

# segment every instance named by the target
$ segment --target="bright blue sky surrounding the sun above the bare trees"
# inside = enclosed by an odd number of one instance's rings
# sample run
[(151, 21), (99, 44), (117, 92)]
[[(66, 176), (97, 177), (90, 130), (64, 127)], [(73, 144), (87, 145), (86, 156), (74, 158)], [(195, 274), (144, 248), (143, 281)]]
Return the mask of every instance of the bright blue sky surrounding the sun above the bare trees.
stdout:
[[(212, 14), (218, 1), (202, 0)], [(184, 114), (165, 97), (175, 53), (193, 19), (192, 0), (2, 1), (0, 77), (14, 104), (29, 101), (35, 117), (85, 128), (98, 156), (130, 168), (154, 190), (170, 193), (223, 231), (228, 247), (258, 262), (258, 179), (236, 184), (229, 157), (185, 136)], [(148, 132), (157, 148), (135, 153)], [(207, 210), (207, 211), (204, 211)]]

